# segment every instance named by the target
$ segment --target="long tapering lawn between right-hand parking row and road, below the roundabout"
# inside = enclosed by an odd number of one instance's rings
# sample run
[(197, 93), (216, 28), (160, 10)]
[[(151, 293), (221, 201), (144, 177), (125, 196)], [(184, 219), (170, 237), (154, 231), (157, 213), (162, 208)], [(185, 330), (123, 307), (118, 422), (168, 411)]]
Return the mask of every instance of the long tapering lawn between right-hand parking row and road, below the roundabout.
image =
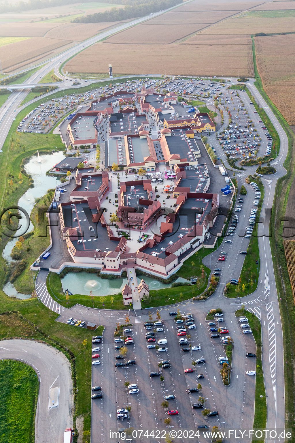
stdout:
[[(261, 213), (261, 206), (264, 198), (264, 187), (260, 180), (251, 180), (256, 182), (259, 189), (261, 190), (261, 198), (259, 200), (259, 205), (255, 206), (257, 208), (257, 218), (256, 221), (259, 220), (259, 216)], [(253, 206), (254, 207), (254, 206)], [(241, 270), (240, 279), (241, 282), (238, 286), (231, 285), (228, 288), (228, 291), (225, 292), (226, 297), (235, 298), (235, 297), (245, 297), (248, 295), (248, 279), (249, 281), (249, 294), (255, 291), (258, 284), (259, 273), (257, 272), (257, 264), (256, 260), (260, 260), (259, 256), (259, 247), (258, 247), (258, 237), (257, 237), (257, 227), (253, 230), (253, 234), (250, 237), (249, 246), (247, 249), (247, 255), (245, 255), (245, 261)], [(259, 263), (260, 268), (260, 263)], [(259, 270), (259, 269), (258, 269)], [(238, 278), (238, 277), (237, 277)], [(255, 281), (256, 280), (256, 281)], [(245, 289), (243, 291), (242, 285), (245, 285)]]

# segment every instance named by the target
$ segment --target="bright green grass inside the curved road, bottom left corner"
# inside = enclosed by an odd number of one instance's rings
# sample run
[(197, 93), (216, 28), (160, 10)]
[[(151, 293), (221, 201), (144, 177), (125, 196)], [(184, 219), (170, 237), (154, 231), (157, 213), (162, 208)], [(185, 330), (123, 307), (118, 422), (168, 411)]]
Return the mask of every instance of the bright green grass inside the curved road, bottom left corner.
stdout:
[(34, 443), (34, 417), (39, 381), (31, 366), (0, 361), (1, 443)]

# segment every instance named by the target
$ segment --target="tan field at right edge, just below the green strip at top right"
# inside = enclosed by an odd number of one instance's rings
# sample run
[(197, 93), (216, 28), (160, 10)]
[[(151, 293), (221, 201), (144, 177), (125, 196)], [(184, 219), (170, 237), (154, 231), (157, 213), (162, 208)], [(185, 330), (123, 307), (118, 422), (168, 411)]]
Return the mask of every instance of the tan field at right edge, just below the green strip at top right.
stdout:
[[(253, 35), (257, 32), (270, 34), (272, 32), (293, 31), (295, 31), (294, 17), (253, 17), (247, 16), (246, 12), (239, 17), (225, 20), (210, 27), (210, 34)], [(206, 31), (206, 34), (209, 34), (209, 32)]]

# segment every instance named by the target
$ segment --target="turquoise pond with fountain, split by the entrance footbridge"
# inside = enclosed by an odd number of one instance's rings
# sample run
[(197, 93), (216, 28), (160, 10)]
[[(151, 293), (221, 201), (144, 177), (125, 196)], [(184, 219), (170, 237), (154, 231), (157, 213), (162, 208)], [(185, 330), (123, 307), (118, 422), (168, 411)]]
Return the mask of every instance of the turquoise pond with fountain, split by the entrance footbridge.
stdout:
[[(150, 290), (171, 288), (172, 285), (172, 283), (161, 283), (161, 281), (155, 280), (152, 276), (138, 276), (138, 284), (140, 283), (140, 280), (142, 278), (145, 280), (146, 284), (149, 285)], [(187, 280), (182, 277), (174, 280), (174, 282), (185, 281)], [(64, 291), (65, 289), (69, 289), (69, 291), (72, 292), (74, 295), (89, 295), (90, 291), (92, 291), (93, 295), (95, 295), (96, 297), (119, 294), (126, 283), (126, 278), (116, 278), (114, 280), (109, 280), (97, 277), (95, 274), (90, 274), (88, 272), (69, 272), (64, 278), (61, 279), (61, 285)]]

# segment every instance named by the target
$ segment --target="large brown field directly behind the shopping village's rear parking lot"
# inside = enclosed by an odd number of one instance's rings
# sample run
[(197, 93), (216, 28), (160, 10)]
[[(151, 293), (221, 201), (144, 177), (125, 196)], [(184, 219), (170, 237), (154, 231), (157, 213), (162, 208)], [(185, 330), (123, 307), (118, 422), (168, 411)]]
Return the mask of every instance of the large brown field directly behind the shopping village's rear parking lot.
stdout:
[[(153, 45), (153, 57), (146, 45), (96, 43), (69, 60), (69, 72), (107, 72), (110, 54), (114, 74), (154, 72), (180, 75), (253, 76), (252, 49), (228, 45), (226, 51), (211, 45)], [(251, 48), (251, 47), (250, 47)], [(192, 62), (193, 60), (193, 62)], [(86, 67), (86, 68), (85, 68)]]

